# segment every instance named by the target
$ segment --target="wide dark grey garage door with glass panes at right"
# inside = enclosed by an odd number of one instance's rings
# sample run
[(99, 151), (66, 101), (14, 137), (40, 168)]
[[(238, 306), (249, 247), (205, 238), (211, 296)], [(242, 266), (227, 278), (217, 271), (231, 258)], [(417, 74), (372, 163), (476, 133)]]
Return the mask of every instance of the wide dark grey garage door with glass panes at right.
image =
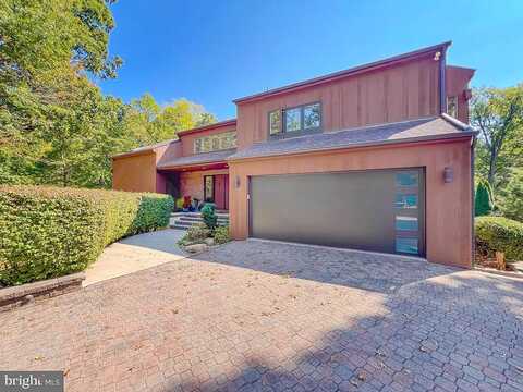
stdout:
[(422, 168), (252, 176), (250, 235), (424, 256)]

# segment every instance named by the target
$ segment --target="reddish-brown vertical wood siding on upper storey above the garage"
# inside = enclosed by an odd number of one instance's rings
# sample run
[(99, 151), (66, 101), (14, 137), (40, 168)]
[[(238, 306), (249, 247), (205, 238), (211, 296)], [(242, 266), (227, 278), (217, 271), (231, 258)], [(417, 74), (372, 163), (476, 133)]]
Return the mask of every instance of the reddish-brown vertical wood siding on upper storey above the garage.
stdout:
[(268, 112), (320, 101), (324, 132), (439, 114), (434, 54), (394, 66), (238, 106), (238, 145), (267, 139)]

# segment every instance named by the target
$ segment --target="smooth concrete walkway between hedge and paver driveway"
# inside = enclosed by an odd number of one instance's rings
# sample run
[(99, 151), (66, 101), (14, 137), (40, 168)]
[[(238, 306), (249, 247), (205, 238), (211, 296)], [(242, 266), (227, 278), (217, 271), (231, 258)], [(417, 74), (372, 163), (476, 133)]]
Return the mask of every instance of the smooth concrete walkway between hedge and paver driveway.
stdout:
[(167, 229), (133, 235), (109, 245), (86, 270), (84, 286), (175, 261), (186, 254), (177, 245), (185, 231)]

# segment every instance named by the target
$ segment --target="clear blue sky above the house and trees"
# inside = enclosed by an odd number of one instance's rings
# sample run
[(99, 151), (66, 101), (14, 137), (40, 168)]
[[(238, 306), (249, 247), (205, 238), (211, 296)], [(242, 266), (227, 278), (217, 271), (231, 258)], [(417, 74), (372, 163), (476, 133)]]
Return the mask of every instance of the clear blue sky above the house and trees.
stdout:
[(124, 64), (106, 94), (185, 97), (219, 120), (232, 100), (452, 40), (473, 86), (523, 82), (523, 1), (120, 0), (110, 50)]

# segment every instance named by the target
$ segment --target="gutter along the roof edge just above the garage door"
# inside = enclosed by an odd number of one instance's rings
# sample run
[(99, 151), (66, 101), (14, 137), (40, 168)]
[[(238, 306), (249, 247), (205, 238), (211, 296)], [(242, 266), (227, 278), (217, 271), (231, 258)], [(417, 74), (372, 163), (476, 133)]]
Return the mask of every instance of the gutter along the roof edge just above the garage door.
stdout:
[(271, 158), (271, 157), (284, 157), (289, 155), (302, 155), (302, 154), (309, 154), (309, 152), (323, 152), (323, 151), (339, 151), (339, 150), (346, 150), (352, 148), (362, 148), (362, 147), (379, 147), (379, 146), (388, 146), (394, 144), (405, 144), (405, 143), (416, 143), (416, 142), (437, 142), (437, 140), (450, 140), (457, 139), (467, 136), (475, 136), (477, 134), (476, 131), (463, 131), (450, 134), (441, 134), (441, 135), (429, 135), (429, 136), (415, 136), (415, 137), (405, 137), (399, 139), (387, 139), (387, 140), (379, 140), (379, 142), (366, 142), (366, 143), (355, 143), (352, 145), (345, 146), (336, 146), (336, 147), (327, 147), (327, 148), (312, 148), (312, 149), (301, 149), (295, 151), (282, 151), (282, 152), (275, 152), (275, 154), (265, 154), (258, 156), (250, 156), (250, 157), (238, 157), (238, 158), (226, 158), (228, 162), (241, 161), (241, 160), (256, 160), (262, 158)]

